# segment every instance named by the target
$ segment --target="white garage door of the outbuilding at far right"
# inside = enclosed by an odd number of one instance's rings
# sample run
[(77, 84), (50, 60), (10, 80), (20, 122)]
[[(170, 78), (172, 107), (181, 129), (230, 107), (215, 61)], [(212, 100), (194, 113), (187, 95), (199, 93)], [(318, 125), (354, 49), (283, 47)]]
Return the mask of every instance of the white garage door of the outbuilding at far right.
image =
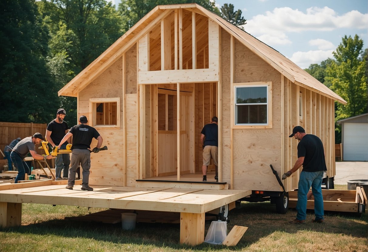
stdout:
[(343, 159), (368, 161), (368, 123), (345, 123)]

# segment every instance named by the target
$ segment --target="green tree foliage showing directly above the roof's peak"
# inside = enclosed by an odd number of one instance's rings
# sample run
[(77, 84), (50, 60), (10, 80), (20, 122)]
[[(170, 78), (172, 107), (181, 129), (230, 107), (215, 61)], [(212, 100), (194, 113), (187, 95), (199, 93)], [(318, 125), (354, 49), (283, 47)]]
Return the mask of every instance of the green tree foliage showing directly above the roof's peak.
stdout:
[(206, 9), (220, 15), (220, 11), (215, 6), (215, 2), (210, 0), (121, 0), (121, 3), (118, 5), (118, 10), (124, 19), (124, 31), (126, 32), (158, 5), (185, 3), (198, 3)]

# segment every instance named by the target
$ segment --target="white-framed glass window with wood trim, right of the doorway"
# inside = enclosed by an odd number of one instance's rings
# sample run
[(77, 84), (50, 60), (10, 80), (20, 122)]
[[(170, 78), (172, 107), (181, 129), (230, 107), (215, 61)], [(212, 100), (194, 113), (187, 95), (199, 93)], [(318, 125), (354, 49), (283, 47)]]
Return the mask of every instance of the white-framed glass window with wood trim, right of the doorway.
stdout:
[(235, 125), (270, 126), (271, 82), (234, 83), (234, 87)]

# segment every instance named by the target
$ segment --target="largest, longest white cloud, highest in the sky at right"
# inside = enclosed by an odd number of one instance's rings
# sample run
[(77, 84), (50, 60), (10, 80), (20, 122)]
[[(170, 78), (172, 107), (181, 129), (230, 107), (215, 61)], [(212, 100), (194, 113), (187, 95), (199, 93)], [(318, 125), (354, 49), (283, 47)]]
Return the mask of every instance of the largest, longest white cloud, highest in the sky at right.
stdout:
[(349, 11), (339, 15), (329, 7), (311, 7), (305, 12), (282, 7), (256, 15), (245, 25), (245, 30), (254, 36), (268, 34), (275, 37), (280, 32), (330, 31), (337, 28), (367, 29), (368, 14)]

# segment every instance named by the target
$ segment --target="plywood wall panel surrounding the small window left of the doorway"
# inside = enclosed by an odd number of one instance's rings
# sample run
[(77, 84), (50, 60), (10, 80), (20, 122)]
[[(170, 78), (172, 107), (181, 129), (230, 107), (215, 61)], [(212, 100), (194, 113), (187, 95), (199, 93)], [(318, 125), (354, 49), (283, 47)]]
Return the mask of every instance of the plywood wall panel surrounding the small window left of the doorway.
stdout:
[[(111, 98), (120, 97), (120, 108), (123, 108), (123, 59), (120, 58), (106, 69), (98, 78), (83, 89), (78, 96), (78, 116), (86, 115), (92, 122), (89, 114), (89, 98)], [(120, 116), (122, 111), (119, 112)], [(120, 120), (123, 123), (123, 120)], [(91, 125), (91, 124), (90, 124)], [(93, 126), (93, 125), (91, 125)], [(103, 137), (103, 145), (108, 150), (91, 154), (91, 174), (89, 183), (95, 185), (122, 186), (124, 181), (123, 167), (124, 159), (121, 155), (114, 155), (121, 150), (123, 140), (123, 125), (120, 129), (116, 127), (96, 127)], [(95, 147), (97, 140), (93, 140), (91, 147)]]

